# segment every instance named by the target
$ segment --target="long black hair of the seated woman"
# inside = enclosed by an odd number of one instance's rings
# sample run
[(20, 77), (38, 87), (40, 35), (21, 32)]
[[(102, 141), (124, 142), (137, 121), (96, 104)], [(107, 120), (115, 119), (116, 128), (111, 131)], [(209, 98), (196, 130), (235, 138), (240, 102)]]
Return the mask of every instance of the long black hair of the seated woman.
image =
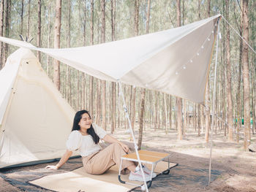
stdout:
[[(80, 122), (80, 120), (82, 118), (82, 115), (84, 113), (87, 113), (89, 115), (89, 117), (91, 118), (91, 115), (86, 110), (81, 110), (81, 111), (76, 112), (74, 122), (73, 122), (72, 131), (75, 131), (75, 130), (79, 131), (80, 130), (80, 126), (78, 125), (78, 123)], [(92, 139), (94, 139), (95, 144), (97, 144), (99, 142), (99, 136), (95, 133), (94, 128), (93, 128), (92, 125), (89, 129), (87, 129), (87, 133), (89, 135), (91, 135)]]

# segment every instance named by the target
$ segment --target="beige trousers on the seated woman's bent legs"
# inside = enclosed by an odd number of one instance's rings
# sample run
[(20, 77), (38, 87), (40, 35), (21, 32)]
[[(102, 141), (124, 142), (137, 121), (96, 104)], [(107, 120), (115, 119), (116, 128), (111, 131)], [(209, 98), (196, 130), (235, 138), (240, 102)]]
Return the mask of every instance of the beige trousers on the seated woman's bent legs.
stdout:
[[(83, 166), (89, 174), (102, 174), (115, 164), (117, 164), (119, 169), (121, 156), (126, 154), (121, 145), (113, 143), (104, 150), (83, 157)], [(135, 165), (135, 163), (123, 160), (121, 169), (125, 169), (131, 165)]]

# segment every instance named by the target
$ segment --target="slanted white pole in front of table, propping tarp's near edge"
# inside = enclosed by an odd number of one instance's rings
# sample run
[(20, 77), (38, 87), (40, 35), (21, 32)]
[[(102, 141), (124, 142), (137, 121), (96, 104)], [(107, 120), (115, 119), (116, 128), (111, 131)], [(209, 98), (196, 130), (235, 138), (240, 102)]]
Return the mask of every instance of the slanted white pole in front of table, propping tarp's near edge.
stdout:
[(123, 88), (122, 88), (122, 86), (121, 86), (120, 80), (118, 80), (118, 84), (119, 84), (119, 93), (121, 94), (122, 99), (123, 99), (123, 102), (124, 102), (124, 112), (125, 112), (125, 114), (126, 114), (125, 116), (126, 116), (126, 118), (128, 119), (128, 123), (129, 123), (129, 131), (130, 131), (130, 133), (132, 134), (132, 139), (133, 139), (133, 142), (134, 142), (134, 145), (135, 145), (135, 152), (136, 152), (136, 155), (137, 155), (137, 158), (138, 158), (138, 163), (139, 163), (139, 165), (140, 165), (140, 170), (141, 170), (141, 172), (142, 172), (145, 190), (146, 190), (146, 192), (148, 192), (148, 185), (147, 185), (147, 183), (146, 183), (145, 173), (143, 172), (143, 169), (142, 169), (142, 164), (141, 164), (141, 161), (140, 161), (140, 155), (139, 155), (139, 153), (138, 153), (138, 145), (137, 145), (136, 142), (135, 142), (135, 136), (134, 136), (134, 133), (133, 133), (133, 130), (132, 130), (131, 120), (129, 119), (129, 113), (128, 113), (128, 110), (127, 110), (127, 104), (125, 103), (125, 100), (124, 100), (124, 93), (123, 93)]

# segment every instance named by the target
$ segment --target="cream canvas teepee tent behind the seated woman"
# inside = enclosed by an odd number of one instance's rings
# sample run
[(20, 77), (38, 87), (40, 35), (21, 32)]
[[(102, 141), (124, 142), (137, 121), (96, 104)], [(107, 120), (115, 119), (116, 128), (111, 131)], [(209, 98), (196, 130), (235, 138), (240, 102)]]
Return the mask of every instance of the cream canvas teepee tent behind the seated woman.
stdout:
[(75, 111), (31, 50), (20, 48), (7, 59), (0, 99), (0, 168), (65, 153)]

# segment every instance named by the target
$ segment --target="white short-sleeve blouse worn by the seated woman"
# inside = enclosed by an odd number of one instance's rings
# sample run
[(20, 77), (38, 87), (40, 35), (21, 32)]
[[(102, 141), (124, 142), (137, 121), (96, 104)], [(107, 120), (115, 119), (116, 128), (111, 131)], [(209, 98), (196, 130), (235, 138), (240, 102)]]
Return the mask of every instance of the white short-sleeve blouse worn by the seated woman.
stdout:
[[(106, 131), (103, 128), (97, 126), (96, 123), (92, 123), (92, 126), (95, 133), (99, 136), (99, 139), (103, 139), (107, 134)], [(72, 131), (69, 134), (66, 146), (67, 150), (80, 150), (81, 156), (88, 156), (101, 150), (99, 143), (95, 144), (94, 139), (92, 139), (91, 135), (84, 136), (80, 133), (80, 131)]]

